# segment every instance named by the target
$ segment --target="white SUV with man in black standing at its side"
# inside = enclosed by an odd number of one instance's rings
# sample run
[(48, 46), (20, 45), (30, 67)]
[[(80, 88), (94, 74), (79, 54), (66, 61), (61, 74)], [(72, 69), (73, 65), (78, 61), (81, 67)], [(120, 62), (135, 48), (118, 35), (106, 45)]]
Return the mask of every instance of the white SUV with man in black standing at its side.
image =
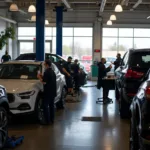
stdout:
[[(57, 78), (57, 97), (55, 104), (62, 108), (64, 105), (65, 77), (52, 64)], [(37, 118), (42, 119), (43, 85), (37, 79), (37, 72), (44, 72), (43, 62), (10, 61), (0, 65), (0, 83), (6, 88), (10, 112), (14, 115), (36, 112)], [(49, 91), (51, 92), (51, 91)]]

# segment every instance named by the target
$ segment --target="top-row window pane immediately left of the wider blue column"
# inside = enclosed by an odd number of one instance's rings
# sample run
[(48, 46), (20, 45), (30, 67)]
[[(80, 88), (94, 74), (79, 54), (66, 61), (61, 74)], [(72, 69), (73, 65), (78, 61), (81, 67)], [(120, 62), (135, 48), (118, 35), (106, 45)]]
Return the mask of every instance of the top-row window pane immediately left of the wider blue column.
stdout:
[(36, 35), (35, 27), (19, 27), (18, 35), (19, 36), (35, 36)]

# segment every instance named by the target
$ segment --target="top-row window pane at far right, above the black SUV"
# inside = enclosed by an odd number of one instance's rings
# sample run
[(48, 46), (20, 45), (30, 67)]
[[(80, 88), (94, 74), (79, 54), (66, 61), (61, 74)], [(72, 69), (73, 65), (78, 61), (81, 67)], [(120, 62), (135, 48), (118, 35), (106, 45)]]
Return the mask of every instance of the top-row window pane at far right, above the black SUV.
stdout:
[(150, 37), (150, 29), (134, 29), (134, 37)]

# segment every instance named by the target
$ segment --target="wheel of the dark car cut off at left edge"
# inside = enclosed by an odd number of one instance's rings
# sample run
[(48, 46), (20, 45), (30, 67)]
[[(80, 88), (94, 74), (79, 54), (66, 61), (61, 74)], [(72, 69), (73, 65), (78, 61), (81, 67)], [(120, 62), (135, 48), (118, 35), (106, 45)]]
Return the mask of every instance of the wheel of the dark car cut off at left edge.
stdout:
[(0, 149), (2, 149), (7, 141), (8, 128), (7, 112), (4, 108), (0, 107)]

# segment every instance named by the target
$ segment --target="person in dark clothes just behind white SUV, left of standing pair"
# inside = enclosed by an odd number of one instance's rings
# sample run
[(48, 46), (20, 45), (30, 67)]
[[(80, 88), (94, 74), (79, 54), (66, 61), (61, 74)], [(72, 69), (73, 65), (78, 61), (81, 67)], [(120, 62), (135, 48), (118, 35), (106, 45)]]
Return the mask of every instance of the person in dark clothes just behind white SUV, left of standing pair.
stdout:
[(73, 83), (71, 77), (71, 62), (72, 62), (72, 57), (69, 56), (67, 62), (64, 63), (62, 70), (66, 78), (68, 94), (73, 96), (74, 92), (73, 92)]

